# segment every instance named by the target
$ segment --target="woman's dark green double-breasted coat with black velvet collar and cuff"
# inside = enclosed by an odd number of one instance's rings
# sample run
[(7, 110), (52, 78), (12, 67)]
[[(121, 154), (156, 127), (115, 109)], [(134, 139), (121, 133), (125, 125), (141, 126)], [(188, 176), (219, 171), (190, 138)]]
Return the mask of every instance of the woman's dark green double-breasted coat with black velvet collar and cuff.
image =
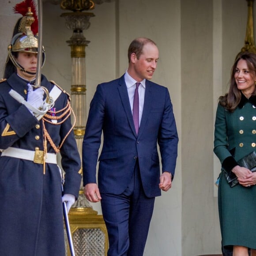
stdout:
[[(230, 113), (218, 105), (215, 121), (214, 152), (222, 167), (232, 169), (239, 159), (256, 151), (256, 96), (244, 96)], [(218, 210), (222, 245), (241, 245), (256, 249), (256, 186), (238, 184), (230, 188), (221, 173)]]

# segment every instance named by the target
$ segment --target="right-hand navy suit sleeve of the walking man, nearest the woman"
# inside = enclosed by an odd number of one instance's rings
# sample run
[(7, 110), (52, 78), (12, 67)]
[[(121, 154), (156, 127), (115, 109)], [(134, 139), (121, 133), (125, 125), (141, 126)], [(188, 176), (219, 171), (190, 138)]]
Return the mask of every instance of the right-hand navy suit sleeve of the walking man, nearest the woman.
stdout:
[(158, 132), (158, 145), (162, 158), (162, 171), (170, 172), (174, 177), (177, 159), (178, 134), (173, 115), (173, 105), (167, 88), (165, 109)]

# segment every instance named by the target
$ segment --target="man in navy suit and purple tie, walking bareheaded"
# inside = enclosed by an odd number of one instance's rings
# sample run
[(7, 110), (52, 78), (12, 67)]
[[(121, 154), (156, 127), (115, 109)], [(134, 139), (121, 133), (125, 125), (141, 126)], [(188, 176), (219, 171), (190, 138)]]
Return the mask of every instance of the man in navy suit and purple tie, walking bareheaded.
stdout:
[(148, 80), (157, 66), (157, 46), (137, 38), (129, 46), (128, 60), (123, 76), (98, 85), (83, 139), (84, 193), (90, 202), (101, 200), (108, 256), (143, 255), (154, 198), (171, 188), (177, 158), (168, 89)]

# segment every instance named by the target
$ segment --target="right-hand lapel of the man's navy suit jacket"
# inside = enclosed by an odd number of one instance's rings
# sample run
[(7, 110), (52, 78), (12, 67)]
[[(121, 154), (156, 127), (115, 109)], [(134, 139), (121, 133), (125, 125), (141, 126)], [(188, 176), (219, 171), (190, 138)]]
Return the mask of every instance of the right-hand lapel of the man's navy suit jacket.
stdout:
[(151, 84), (149, 83), (148, 80), (146, 80), (146, 90), (145, 90), (145, 98), (144, 98), (144, 106), (143, 106), (143, 113), (139, 125), (139, 133), (138, 137), (142, 134), (145, 125), (147, 123), (147, 118), (150, 114), (150, 109), (151, 109), (151, 102), (152, 102), (152, 88)]

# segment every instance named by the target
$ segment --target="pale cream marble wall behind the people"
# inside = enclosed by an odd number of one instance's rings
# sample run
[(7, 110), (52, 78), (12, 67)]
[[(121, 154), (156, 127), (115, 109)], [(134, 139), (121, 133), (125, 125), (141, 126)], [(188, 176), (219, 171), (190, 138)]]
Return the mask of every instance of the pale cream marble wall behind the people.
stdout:
[[(0, 77), (18, 15), (9, 0), (0, 9)], [(44, 3), (42, 72), (65, 90), (71, 86), (72, 31), (65, 11)], [(226, 90), (234, 57), (244, 44), (245, 0), (116, 0), (96, 5), (84, 31), (87, 111), (98, 83), (122, 75), (127, 49), (136, 37), (153, 39), (160, 59), (153, 81), (168, 87), (180, 137), (173, 187), (156, 199), (145, 256), (220, 253), (214, 196), (213, 124), (217, 97)], [(217, 95), (217, 96), (216, 96)], [(218, 167), (217, 167), (218, 173)], [(216, 191), (215, 191), (216, 192)], [(99, 204), (92, 205), (101, 214)]]

